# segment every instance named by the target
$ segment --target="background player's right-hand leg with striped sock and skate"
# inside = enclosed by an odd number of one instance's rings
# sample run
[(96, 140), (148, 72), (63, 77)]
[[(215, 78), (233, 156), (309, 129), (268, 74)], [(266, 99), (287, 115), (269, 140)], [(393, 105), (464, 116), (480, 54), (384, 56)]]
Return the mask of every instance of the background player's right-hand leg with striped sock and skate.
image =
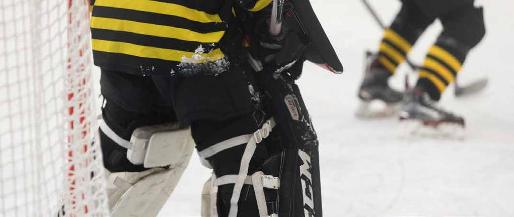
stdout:
[(449, 125), (450, 130), (443, 133), (456, 134), (454, 127), (464, 128), (464, 118), (436, 107), (435, 102), (455, 80), (470, 49), (484, 37), (483, 11), (475, 8), (472, 0), (417, 2), (426, 13), (439, 17), (444, 30), (428, 51), (416, 87), (406, 94), (400, 120), (413, 120), (435, 129)]

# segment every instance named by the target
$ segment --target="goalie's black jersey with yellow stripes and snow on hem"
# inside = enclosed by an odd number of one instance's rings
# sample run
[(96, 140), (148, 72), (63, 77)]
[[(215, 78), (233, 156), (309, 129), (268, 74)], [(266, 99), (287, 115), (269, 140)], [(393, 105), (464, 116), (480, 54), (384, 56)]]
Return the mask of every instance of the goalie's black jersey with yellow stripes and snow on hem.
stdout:
[[(132, 74), (175, 74), (227, 65), (241, 45), (233, 7), (259, 11), (272, 0), (92, 0), (95, 65)], [(235, 58), (235, 57), (234, 57)]]

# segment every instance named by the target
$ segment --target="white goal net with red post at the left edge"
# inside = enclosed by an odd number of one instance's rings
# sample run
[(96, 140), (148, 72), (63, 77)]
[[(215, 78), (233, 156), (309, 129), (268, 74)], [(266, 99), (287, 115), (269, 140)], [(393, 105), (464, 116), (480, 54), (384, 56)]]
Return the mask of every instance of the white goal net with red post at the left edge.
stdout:
[(0, 216), (108, 216), (88, 2), (0, 1)]

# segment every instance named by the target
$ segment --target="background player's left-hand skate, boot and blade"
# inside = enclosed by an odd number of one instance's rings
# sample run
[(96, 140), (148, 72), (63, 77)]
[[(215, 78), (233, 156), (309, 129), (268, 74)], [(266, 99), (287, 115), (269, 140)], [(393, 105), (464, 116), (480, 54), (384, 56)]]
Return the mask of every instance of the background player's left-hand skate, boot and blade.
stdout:
[(378, 66), (377, 55), (366, 53), (364, 80), (359, 88), (360, 105), (355, 115), (359, 118), (388, 117), (398, 113), (403, 93), (391, 88), (389, 71)]

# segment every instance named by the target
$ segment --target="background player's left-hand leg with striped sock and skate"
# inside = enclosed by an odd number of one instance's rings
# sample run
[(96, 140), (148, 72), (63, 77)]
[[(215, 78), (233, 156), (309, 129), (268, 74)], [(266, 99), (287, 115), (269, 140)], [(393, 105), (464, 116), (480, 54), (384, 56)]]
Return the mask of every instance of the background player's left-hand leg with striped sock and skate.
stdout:
[[(390, 88), (388, 80), (434, 20), (435, 17), (421, 11), (412, 1), (402, 1), (402, 7), (393, 23), (384, 31), (378, 54), (369, 55), (366, 60), (365, 76), (358, 93), (362, 103), (357, 116), (387, 116), (398, 110), (403, 94)], [(374, 100), (383, 101), (387, 106), (382, 111), (372, 111), (369, 106)]]

